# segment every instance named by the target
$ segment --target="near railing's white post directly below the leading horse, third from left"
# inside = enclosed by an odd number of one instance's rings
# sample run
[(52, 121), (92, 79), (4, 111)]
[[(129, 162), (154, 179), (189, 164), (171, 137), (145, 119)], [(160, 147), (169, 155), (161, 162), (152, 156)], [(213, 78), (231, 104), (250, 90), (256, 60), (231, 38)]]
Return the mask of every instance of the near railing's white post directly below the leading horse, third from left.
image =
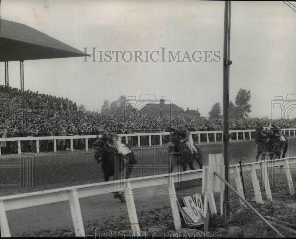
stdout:
[(131, 230), (133, 230), (133, 236), (137, 235), (137, 232), (140, 232), (140, 226), (136, 211), (135, 202), (133, 200), (133, 191), (130, 190), (131, 183), (128, 182), (127, 187), (124, 188), (124, 197), (126, 199), (126, 207), (128, 209), (128, 217), (131, 222)]

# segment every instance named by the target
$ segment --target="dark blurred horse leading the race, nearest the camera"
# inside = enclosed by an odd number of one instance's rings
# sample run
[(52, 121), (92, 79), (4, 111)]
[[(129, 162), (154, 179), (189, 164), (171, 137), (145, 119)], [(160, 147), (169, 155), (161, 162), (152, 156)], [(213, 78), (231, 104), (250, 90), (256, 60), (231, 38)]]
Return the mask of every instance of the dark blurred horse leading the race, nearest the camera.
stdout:
[[(102, 162), (102, 170), (104, 173), (105, 182), (109, 181), (109, 177), (114, 176), (114, 180), (120, 179), (120, 172), (126, 170), (125, 178), (131, 174), (134, 165), (137, 164), (132, 147), (126, 144), (129, 153), (126, 156), (118, 156), (116, 145), (111, 141), (112, 133), (104, 132), (102, 138), (97, 136), (93, 143), (95, 148), (94, 158), (100, 163)], [(123, 193), (114, 192), (114, 198), (119, 198), (124, 202)]]

